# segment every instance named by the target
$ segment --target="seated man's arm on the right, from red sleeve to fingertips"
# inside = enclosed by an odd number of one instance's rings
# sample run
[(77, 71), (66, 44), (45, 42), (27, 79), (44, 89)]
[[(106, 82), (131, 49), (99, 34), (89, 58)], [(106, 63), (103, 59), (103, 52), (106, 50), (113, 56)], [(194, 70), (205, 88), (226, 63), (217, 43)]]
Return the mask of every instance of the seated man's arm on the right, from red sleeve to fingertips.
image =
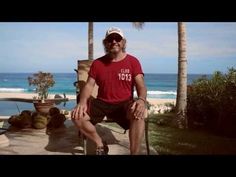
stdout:
[(131, 109), (135, 119), (144, 118), (147, 98), (147, 88), (145, 86), (143, 74), (138, 74), (135, 77), (135, 87), (138, 95), (138, 99), (134, 102)]

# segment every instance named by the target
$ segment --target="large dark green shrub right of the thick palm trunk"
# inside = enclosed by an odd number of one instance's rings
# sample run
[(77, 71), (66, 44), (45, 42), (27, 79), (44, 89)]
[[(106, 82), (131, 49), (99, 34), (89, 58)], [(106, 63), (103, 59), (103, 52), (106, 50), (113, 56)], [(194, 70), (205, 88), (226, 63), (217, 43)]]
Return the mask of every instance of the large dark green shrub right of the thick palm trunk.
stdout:
[(216, 71), (188, 86), (187, 114), (190, 127), (204, 125), (221, 134), (236, 134), (236, 70)]

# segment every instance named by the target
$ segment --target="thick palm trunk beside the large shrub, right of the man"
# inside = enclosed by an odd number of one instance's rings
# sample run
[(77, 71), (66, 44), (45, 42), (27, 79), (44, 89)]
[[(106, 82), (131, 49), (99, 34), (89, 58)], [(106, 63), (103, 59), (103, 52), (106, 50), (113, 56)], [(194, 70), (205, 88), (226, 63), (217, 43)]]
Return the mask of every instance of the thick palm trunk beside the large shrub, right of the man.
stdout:
[(178, 22), (178, 85), (176, 100), (176, 119), (178, 128), (187, 128), (187, 58), (186, 29)]

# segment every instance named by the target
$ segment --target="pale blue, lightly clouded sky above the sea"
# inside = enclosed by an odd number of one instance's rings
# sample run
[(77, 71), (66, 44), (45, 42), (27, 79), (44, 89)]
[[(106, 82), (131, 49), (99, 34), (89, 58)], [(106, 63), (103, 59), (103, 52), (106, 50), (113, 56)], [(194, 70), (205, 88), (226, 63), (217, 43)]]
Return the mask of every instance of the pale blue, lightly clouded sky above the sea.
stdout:
[[(236, 68), (236, 22), (186, 22), (189, 74), (226, 73)], [(127, 39), (127, 53), (144, 73), (178, 72), (176, 22), (94, 22), (94, 58), (104, 55), (102, 40), (110, 27)], [(0, 73), (73, 73), (88, 58), (87, 22), (0, 22)]]

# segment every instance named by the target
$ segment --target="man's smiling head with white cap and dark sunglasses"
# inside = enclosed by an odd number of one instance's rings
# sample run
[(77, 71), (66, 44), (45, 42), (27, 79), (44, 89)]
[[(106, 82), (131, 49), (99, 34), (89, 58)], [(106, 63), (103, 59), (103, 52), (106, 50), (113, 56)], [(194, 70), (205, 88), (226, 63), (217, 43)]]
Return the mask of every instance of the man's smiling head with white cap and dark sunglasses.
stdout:
[(120, 50), (125, 52), (126, 39), (121, 29), (111, 27), (106, 31), (103, 45), (106, 53), (117, 53)]

